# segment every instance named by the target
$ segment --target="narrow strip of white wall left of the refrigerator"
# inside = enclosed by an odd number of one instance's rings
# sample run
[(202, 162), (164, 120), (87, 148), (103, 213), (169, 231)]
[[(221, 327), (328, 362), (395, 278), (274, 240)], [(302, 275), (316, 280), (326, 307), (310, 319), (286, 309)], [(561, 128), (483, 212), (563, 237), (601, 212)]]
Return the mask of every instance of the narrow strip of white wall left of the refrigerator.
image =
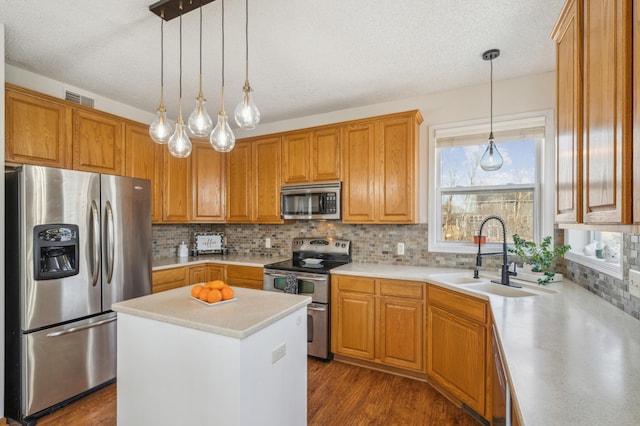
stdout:
[[(4, 58), (4, 24), (0, 23), (0, 57)], [(0, 67), (4, 88), (4, 67)], [(4, 164), (4, 90), (0, 90), (0, 164)], [(0, 179), (0, 418), (4, 417), (4, 179)]]

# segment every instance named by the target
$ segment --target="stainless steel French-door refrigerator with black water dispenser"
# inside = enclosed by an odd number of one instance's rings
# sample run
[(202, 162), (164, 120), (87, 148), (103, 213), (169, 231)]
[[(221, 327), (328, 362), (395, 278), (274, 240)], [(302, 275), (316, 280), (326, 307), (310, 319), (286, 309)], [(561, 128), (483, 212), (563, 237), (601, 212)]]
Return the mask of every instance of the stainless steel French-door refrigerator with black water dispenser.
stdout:
[(151, 190), (29, 165), (5, 183), (5, 415), (29, 424), (114, 380), (111, 304), (151, 292)]

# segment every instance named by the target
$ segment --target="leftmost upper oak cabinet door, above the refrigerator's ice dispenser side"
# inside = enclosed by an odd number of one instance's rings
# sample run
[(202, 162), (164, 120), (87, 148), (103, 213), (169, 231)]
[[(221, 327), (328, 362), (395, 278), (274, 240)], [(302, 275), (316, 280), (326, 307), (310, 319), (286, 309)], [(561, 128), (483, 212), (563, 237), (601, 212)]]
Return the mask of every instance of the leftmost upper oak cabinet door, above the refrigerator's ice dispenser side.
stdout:
[(11, 88), (5, 96), (5, 160), (70, 169), (71, 109)]

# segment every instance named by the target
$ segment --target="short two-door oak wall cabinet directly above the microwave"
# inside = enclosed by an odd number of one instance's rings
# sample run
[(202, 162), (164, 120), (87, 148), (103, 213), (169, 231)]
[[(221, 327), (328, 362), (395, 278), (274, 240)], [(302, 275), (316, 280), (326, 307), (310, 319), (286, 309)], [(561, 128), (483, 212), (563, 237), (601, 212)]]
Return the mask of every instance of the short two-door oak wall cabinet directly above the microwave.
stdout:
[(282, 135), (282, 183), (339, 180), (340, 160), (337, 127)]

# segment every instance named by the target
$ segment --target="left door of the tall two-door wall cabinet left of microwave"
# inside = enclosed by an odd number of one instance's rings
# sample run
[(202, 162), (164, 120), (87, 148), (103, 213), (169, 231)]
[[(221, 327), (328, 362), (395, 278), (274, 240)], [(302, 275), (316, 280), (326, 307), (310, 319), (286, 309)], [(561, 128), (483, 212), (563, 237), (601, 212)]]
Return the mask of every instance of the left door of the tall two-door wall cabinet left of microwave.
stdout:
[(237, 142), (226, 157), (227, 222), (249, 223), (253, 216), (251, 142)]

